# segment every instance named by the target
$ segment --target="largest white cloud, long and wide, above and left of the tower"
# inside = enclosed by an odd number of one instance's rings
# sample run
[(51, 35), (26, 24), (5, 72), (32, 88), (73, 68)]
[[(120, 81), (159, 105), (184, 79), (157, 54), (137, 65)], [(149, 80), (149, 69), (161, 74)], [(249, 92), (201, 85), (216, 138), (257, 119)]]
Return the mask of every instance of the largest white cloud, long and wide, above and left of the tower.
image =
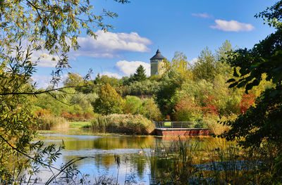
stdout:
[(123, 51), (147, 52), (147, 45), (152, 42), (140, 37), (137, 32), (113, 33), (98, 30), (93, 37), (78, 37), (80, 49), (73, 51), (73, 56), (90, 56), (94, 58), (115, 58), (119, 57)]

